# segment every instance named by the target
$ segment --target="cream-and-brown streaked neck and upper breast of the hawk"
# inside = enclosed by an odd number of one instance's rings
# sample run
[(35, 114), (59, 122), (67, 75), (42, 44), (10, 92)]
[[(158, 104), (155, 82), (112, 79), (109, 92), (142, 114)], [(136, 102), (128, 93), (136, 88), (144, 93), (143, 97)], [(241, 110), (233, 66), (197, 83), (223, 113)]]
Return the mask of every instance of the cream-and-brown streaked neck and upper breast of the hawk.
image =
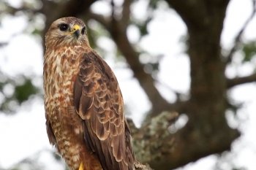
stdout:
[[(72, 88), (86, 48), (81, 46), (47, 49), (44, 56), (45, 95), (53, 97), (64, 86)], [(67, 87), (66, 87), (67, 88)], [(70, 89), (72, 90), (72, 89)]]

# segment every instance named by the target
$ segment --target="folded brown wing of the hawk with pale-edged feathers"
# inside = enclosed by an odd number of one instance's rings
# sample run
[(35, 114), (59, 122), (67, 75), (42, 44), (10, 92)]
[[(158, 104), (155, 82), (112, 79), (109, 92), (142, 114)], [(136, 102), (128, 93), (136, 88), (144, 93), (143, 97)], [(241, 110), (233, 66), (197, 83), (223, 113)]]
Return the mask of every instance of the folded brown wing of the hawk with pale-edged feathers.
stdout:
[(86, 146), (97, 154), (102, 168), (132, 170), (134, 156), (118, 82), (94, 52), (86, 53), (80, 66), (74, 102), (83, 119)]

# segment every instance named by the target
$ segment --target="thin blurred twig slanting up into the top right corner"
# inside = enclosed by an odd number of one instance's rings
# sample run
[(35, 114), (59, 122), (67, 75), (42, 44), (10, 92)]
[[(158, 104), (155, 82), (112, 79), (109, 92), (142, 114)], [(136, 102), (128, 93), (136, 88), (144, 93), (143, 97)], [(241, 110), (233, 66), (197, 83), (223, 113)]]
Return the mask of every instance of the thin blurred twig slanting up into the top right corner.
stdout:
[(235, 42), (233, 47), (230, 50), (230, 53), (226, 56), (226, 61), (225, 63), (230, 63), (234, 53), (238, 50), (239, 45), (241, 44), (241, 36), (243, 36), (245, 29), (249, 25), (249, 23), (252, 21), (252, 19), (255, 17), (256, 13), (256, 0), (252, 0), (252, 14), (249, 16), (249, 18), (245, 21), (244, 26), (242, 26), (241, 30), (238, 32), (235, 38)]

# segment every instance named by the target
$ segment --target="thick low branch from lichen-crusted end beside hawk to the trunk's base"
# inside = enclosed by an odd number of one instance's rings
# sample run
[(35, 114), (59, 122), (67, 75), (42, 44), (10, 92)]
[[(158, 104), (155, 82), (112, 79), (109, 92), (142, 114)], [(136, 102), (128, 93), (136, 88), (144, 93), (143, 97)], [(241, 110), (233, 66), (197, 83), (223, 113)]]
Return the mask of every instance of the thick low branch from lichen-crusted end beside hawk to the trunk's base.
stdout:
[(176, 112), (162, 112), (146, 119), (139, 129), (128, 120), (135, 156), (139, 161), (154, 169), (175, 169), (206, 155), (230, 150), (231, 142), (239, 135), (228, 127), (221, 127), (222, 131), (210, 135), (200, 134), (192, 127), (170, 134), (168, 128), (177, 117)]

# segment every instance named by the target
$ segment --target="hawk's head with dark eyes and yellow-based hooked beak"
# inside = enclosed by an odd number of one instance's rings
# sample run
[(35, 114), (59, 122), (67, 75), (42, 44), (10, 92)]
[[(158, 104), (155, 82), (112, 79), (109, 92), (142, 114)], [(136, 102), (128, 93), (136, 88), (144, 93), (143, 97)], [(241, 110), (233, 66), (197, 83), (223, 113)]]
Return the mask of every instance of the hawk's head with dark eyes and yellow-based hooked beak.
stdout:
[(89, 41), (86, 25), (78, 18), (68, 17), (55, 20), (45, 35), (46, 47), (87, 45)]

